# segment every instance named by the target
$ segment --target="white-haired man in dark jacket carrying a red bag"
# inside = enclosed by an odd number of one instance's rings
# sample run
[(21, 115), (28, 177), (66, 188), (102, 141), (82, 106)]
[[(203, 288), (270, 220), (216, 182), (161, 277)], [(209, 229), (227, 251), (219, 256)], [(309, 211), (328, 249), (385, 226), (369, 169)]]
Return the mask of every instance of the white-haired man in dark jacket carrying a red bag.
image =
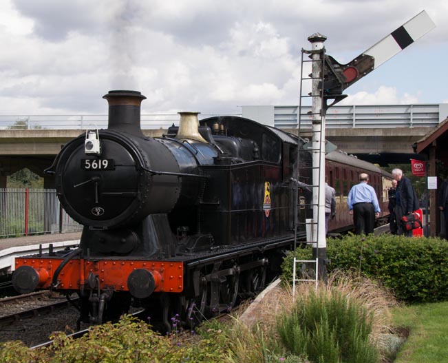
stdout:
[(397, 233), (407, 237), (412, 237), (412, 230), (405, 231), (401, 225), (401, 217), (411, 214), (418, 209), (418, 198), (411, 180), (403, 175), (401, 169), (392, 170), (392, 176), (398, 182), (395, 192), (395, 216), (397, 223)]

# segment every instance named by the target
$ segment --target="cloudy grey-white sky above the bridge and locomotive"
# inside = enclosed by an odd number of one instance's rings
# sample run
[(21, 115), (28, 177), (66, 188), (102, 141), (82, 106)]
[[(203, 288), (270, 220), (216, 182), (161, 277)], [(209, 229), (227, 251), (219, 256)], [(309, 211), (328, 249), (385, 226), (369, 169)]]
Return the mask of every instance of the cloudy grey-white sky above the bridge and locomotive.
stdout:
[(109, 90), (143, 113), (297, 105), (308, 36), (348, 63), (421, 10), (436, 28), (344, 103), (448, 103), (447, 0), (1, 0), (0, 114), (105, 114)]

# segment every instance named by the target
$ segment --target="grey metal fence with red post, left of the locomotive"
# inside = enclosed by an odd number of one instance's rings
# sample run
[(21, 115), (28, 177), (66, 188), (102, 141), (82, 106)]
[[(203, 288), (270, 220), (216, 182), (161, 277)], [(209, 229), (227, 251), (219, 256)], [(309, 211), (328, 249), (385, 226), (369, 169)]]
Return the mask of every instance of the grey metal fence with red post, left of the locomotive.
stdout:
[(56, 197), (56, 189), (0, 188), (0, 237), (81, 231)]

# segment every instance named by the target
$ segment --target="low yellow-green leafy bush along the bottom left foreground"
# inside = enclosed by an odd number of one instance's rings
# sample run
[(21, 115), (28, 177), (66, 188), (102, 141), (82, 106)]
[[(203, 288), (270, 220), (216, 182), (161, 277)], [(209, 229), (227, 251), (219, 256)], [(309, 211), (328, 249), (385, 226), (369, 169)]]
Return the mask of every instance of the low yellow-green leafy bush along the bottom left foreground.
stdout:
[(222, 362), (228, 354), (219, 331), (213, 331), (213, 339), (197, 337), (192, 344), (180, 344), (177, 335), (162, 336), (129, 315), (116, 324), (94, 326), (88, 335), (78, 340), (67, 338), (63, 333), (56, 333), (53, 338), (52, 346), (34, 351), (21, 342), (2, 343), (0, 362)]

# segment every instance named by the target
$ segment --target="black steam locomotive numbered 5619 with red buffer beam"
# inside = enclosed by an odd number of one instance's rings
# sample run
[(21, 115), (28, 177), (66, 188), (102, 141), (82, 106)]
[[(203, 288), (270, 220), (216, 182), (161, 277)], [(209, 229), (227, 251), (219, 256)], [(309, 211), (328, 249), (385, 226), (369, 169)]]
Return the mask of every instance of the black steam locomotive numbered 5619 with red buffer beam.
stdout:
[[(145, 307), (167, 330), (175, 314), (198, 324), (262, 289), (279, 273), (284, 251), (305, 235), (295, 216), (310, 214), (295, 207), (308, 198), (303, 190), (297, 195), (297, 148), (304, 141), (236, 116), (199, 123), (194, 112), (180, 113), (178, 127), (150, 138), (140, 129), (145, 96), (110, 91), (103, 98), (107, 129), (74, 138), (47, 169), (61, 204), (84, 226), (81, 243), (17, 258), (14, 288), (77, 293), (79, 322)], [(348, 168), (356, 178), (370, 168), (382, 190), (380, 169), (347, 158), (328, 156), (330, 183), (339, 183), (338, 167), (341, 178)], [(300, 163), (311, 165), (310, 155)], [(310, 175), (299, 179), (311, 183)], [(339, 216), (350, 184), (338, 184)], [(335, 230), (352, 227), (352, 220), (331, 223)]]

